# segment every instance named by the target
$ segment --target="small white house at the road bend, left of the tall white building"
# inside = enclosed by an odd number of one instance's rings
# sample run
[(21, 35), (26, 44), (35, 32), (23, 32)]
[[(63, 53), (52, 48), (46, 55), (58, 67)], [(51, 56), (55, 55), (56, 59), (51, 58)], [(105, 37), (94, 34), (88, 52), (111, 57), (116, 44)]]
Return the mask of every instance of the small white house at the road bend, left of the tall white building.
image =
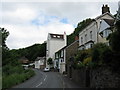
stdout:
[(35, 68), (43, 69), (45, 67), (45, 57), (37, 57), (35, 60)]

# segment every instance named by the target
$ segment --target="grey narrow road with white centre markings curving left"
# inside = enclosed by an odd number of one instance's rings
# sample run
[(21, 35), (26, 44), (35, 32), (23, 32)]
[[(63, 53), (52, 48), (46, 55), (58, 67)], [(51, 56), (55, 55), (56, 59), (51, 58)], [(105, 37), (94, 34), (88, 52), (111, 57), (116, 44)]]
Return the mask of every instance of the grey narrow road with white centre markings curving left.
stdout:
[(59, 72), (43, 72), (34, 69), (36, 75), (13, 88), (79, 88)]

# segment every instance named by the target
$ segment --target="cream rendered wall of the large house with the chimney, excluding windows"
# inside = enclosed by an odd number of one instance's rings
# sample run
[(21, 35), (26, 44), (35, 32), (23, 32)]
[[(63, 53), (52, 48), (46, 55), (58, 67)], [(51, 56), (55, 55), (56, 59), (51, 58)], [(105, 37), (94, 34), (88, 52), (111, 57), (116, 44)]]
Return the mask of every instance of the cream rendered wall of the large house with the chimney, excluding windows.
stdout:
[[(79, 33), (79, 46), (85, 45), (85, 43), (89, 42), (90, 40), (92, 40), (94, 42), (94, 44), (99, 43), (99, 42), (106, 42), (106, 39), (102, 38), (99, 35), (100, 22), (102, 19), (113, 19), (113, 17), (110, 16), (109, 14), (104, 14), (102, 16), (95, 18), (95, 21), (93, 21), (90, 25), (88, 25), (85, 29), (83, 29), (83, 31), (81, 31)], [(92, 38), (90, 37), (91, 31), (92, 31)], [(87, 39), (85, 39), (85, 35), (87, 35)], [(81, 37), (83, 37), (83, 42), (81, 42)], [(82, 47), (80, 47), (80, 50), (81, 50), (81, 48)], [(86, 49), (86, 47), (85, 47), (85, 49)]]

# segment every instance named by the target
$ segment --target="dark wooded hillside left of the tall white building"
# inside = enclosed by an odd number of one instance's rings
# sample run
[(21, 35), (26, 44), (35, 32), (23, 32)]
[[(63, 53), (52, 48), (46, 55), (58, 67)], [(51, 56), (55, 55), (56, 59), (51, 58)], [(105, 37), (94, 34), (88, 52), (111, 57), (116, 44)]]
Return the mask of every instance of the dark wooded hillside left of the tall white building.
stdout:
[(34, 44), (32, 46), (15, 50), (21, 57), (25, 56), (30, 61), (34, 61), (37, 57), (46, 55), (46, 43)]

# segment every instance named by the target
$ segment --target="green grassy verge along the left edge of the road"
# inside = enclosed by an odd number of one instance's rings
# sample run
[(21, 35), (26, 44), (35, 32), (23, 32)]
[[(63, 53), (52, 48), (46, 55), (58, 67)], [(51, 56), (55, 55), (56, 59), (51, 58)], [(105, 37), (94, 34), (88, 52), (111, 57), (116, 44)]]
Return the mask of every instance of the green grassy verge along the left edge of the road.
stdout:
[(3, 76), (3, 89), (11, 88), (14, 85), (20, 84), (25, 80), (28, 80), (30, 77), (35, 75), (34, 71), (31, 69), (25, 70), (21, 74), (12, 73), (10, 75)]

